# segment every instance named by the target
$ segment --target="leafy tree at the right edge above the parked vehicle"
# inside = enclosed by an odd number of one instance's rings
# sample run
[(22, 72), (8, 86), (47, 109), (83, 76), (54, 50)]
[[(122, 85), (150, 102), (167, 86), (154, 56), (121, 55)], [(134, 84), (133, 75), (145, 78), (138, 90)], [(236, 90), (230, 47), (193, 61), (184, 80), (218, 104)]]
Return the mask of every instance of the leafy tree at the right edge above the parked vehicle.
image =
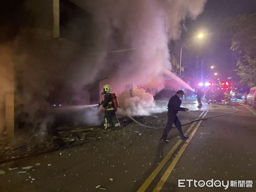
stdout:
[(230, 49), (236, 55), (236, 73), (240, 83), (256, 86), (256, 12), (253, 14), (228, 17), (226, 32), (232, 35)]

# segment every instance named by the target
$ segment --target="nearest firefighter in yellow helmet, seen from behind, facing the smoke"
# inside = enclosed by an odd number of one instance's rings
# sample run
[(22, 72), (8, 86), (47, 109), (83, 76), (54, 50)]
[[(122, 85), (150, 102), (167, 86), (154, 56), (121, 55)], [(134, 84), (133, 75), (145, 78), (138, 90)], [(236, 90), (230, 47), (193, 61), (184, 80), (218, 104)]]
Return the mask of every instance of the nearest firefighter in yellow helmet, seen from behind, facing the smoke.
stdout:
[(116, 108), (113, 108), (112, 98), (111, 98), (111, 87), (109, 84), (105, 84), (103, 86), (104, 100), (101, 102), (103, 108), (105, 108), (105, 115), (104, 115), (104, 129), (109, 129), (111, 126), (114, 129), (120, 129), (119, 120), (116, 117)]

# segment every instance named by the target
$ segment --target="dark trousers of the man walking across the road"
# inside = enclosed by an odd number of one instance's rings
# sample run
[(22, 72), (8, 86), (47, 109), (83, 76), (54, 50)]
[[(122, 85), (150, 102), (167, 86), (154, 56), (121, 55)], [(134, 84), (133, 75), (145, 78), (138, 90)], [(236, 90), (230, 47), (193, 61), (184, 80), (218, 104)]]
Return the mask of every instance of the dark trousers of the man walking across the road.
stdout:
[(181, 129), (181, 122), (180, 122), (179, 118), (177, 117), (176, 114), (172, 113), (171, 111), (168, 111), (168, 120), (167, 120), (166, 128), (163, 131), (163, 135), (162, 135), (161, 139), (167, 140), (168, 133), (171, 130), (173, 123), (175, 124), (175, 126), (178, 129), (178, 131), (180, 133), (180, 137), (181, 138), (185, 137), (182, 132), (182, 129)]

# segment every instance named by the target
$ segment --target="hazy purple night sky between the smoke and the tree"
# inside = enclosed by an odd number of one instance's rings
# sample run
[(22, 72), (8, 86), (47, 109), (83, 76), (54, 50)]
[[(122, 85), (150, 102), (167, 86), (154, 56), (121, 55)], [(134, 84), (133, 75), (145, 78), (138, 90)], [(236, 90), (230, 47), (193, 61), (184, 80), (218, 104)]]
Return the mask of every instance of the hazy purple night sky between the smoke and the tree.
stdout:
[[(213, 73), (219, 73), (219, 79), (226, 79), (227, 76), (239, 80), (234, 69), (236, 58), (230, 51), (230, 36), (224, 34), (224, 20), (226, 17), (234, 17), (239, 14), (250, 14), (256, 12), (255, 0), (208, 0), (204, 12), (196, 20), (186, 22), (188, 34), (194, 35), (198, 29), (203, 29), (209, 35), (205, 36), (204, 42), (200, 45), (200, 53), (204, 58), (205, 67), (215, 65), (215, 70), (208, 71), (209, 79), (217, 79)], [(232, 69), (232, 70), (230, 70)]]

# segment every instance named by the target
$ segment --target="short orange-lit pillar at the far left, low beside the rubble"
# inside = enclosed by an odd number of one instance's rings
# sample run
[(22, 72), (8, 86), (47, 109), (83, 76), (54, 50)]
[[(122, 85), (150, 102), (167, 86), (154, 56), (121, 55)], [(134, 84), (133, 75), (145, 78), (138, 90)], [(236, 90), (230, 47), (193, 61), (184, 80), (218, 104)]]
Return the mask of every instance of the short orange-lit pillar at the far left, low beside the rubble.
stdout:
[(14, 135), (14, 94), (6, 94), (6, 134), (8, 136)]

